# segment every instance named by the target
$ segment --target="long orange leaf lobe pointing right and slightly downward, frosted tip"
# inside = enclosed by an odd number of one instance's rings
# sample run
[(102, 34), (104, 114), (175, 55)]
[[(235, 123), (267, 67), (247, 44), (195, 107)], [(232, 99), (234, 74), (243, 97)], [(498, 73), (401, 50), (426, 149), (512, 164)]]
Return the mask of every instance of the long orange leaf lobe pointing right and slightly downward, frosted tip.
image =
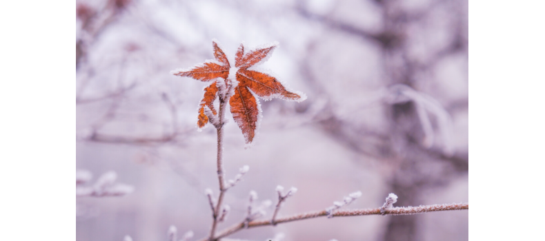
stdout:
[(264, 99), (277, 97), (298, 100), (301, 98), (298, 94), (288, 92), (284, 85), (278, 82), (275, 77), (261, 72), (240, 69), (237, 72), (237, 81), (239, 81), (239, 85), (249, 87), (252, 92)]

